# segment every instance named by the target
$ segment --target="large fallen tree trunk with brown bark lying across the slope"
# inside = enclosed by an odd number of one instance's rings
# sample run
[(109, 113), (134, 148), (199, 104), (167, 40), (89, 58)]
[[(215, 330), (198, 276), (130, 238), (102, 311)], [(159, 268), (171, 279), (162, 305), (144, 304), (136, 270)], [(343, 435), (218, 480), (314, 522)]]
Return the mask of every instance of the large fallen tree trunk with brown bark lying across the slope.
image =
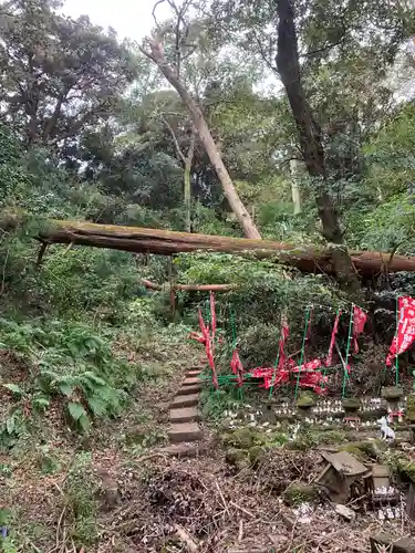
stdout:
[[(18, 217), (8, 216), (0, 227), (3, 230), (10, 230), (20, 222), (21, 219)], [(37, 238), (46, 243), (72, 243), (158, 255), (198, 251), (251, 255), (256, 259), (273, 259), (276, 262), (295, 267), (303, 272), (335, 274), (332, 247), (328, 250), (324, 247), (295, 247), (271, 240), (58, 220), (48, 221)], [(415, 257), (376, 251), (350, 251), (349, 253), (354, 268), (362, 276), (374, 276), (382, 271), (415, 271)]]

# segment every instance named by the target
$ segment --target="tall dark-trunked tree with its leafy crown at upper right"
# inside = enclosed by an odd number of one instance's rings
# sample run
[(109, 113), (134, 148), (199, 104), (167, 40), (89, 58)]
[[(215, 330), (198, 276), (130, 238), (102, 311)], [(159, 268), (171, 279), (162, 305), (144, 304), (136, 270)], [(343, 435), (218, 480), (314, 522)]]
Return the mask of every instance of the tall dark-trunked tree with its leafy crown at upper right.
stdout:
[[(352, 174), (361, 167), (355, 152), (338, 155), (333, 144), (340, 134), (346, 137), (350, 129), (356, 129), (353, 139), (343, 140), (343, 145), (354, 147), (354, 138), (364, 125), (367, 127), (380, 98), (356, 93), (362, 84), (354, 90), (350, 86), (353, 76), (344, 79), (345, 62), (354, 59), (353, 69), (360, 62), (362, 70), (363, 61), (365, 90), (382, 92), (378, 84), (385, 69), (408, 33), (408, 13), (392, 0), (363, 3), (347, 0), (341, 8), (334, 0), (214, 0), (212, 15), (214, 33), (221, 31), (232, 41), (238, 40), (247, 52), (255, 50), (280, 76), (311, 177), (322, 233), (329, 242), (341, 244), (342, 228), (333, 205), (332, 185), (345, 175), (341, 170), (345, 163)], [(366, 71), (371, 65), (372, 73)], [(353, 75), (359, 75), (359, 70)], [(324, 80), (326, 90), (319, 91)], [(324, 103), (328, 91), (331, 101)], [(367, 114), (367, 118), (362, 114)], [(355, 281), (350, 259), (345, 251), (338, 255), (340, 250), (343, 249), (333, 249), (333, 263), (345, 280)]]

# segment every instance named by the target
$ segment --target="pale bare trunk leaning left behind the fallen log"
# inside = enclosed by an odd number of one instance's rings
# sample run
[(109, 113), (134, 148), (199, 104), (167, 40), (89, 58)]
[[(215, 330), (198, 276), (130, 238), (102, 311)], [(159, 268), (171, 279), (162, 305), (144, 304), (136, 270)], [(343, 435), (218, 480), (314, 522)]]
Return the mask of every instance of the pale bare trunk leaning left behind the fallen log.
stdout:
[(179, 80), (177, 72), (167, 63), (163, 53), (163, 46), (160, 42), (157, 40), (153, 40), (151, 42), (151, 49), (152, 51), (148, 52), (145, 49), (141, 48), (141, 51), (157, 64), (160, 72), (172, 84), (172, 86), (176, 88), (178, 95), (189, 111), (195, 127), (199, 134), (200, 140), (205, 146), (210, 163), (215, 167), (215, 170), (218, 175), (224, 195), (229, 202), (230, 209), (234, 211), (240, 226), (242, 227), (245, 236), (247, 238), (261, 238), (257, 227), (255, 226), (250, 215), (248, 213), (234, 187), (232, 180), (229, 176), (229, 173), (227, 171), (227, 168), (224, 165), (219, 150), (210, 134), (209, 127), (206, 123), (200, 107), (197, 105), (191, 94)]

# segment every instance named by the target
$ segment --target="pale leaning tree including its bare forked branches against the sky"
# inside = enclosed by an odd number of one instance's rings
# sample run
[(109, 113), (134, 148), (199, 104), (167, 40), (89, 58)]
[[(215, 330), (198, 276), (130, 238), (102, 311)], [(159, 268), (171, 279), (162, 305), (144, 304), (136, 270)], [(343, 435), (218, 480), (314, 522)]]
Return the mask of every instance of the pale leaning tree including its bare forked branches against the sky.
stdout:
[[(157, 2), (159, 4), (160, 2)], [(175, 21), (172, 24), (158, 25), (153, 36), (147, 39), (141, 48), (143, 54), (151, 59), (159, 69), (162, 74), (174, 86), (188, 108), (193, 118), (195, 128), (200, 137), (201, 143), (209, 156), (210, 163), (214, 166), (220, 180), (224, 195), (227, 198), (229, 206), (236, 215), (241, 228), (247, 238), (261, 238), (260, 233), (250, 217), (249, 212), (241, 202), (227, 168), (222, 161), (219, 149), (214, 140), (210, 129), (206, 123), (204, 113), (189, 88), (184, 83), (180, 76), (180, 69), (184, 60), (191, 55), (194, 45), (188, 42), (191, 31), (189, 22), (186, 20), (186, 13), (190, 6), (190, 0), (185, 0), (180, 7), (177, 7), (174, 0), (168, 0), (169, 6), (175, 12)], [(197, 25), (194, 25), (197, 28)], [(164, 48), (163, 41), (168, 33), (173, 33), (173, 62), (166, 56), (167, 49)]]

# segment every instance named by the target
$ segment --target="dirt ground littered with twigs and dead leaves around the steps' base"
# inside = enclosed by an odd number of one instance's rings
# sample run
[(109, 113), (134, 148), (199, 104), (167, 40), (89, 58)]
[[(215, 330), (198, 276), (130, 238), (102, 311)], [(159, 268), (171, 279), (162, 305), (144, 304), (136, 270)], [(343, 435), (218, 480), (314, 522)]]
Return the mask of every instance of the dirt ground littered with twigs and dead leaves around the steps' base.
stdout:
[[(308, 499), (298, 491), (323, 467), (321, 442), (332, 437), (339, 446), (356, 439), (355, 431), (325, 432), (320, 444), (305, 432), (297, 448), (281, 438), (292, 429), (263, 427), (267, 446), (251, 448), (258, 456), (238, 463), (224, 441), (226, 417), (215, 411), (204, 421), (198, 455), (167, 456), (168, 405), (183, 371), (143, 384), (123, 418), (87, 438), (49, 420), (48, 441), (28, 437), (0, 457), (0, 514), (9, 511), (4, 552), (364, 553), (378, 532), (415, 533), (404, 494), (394, 520), (380, 521), (361, 498), (350, 502), (355, 520), (347, 522), (324, 494)], [(409, 459), (409, 450), (401, 455)]]

